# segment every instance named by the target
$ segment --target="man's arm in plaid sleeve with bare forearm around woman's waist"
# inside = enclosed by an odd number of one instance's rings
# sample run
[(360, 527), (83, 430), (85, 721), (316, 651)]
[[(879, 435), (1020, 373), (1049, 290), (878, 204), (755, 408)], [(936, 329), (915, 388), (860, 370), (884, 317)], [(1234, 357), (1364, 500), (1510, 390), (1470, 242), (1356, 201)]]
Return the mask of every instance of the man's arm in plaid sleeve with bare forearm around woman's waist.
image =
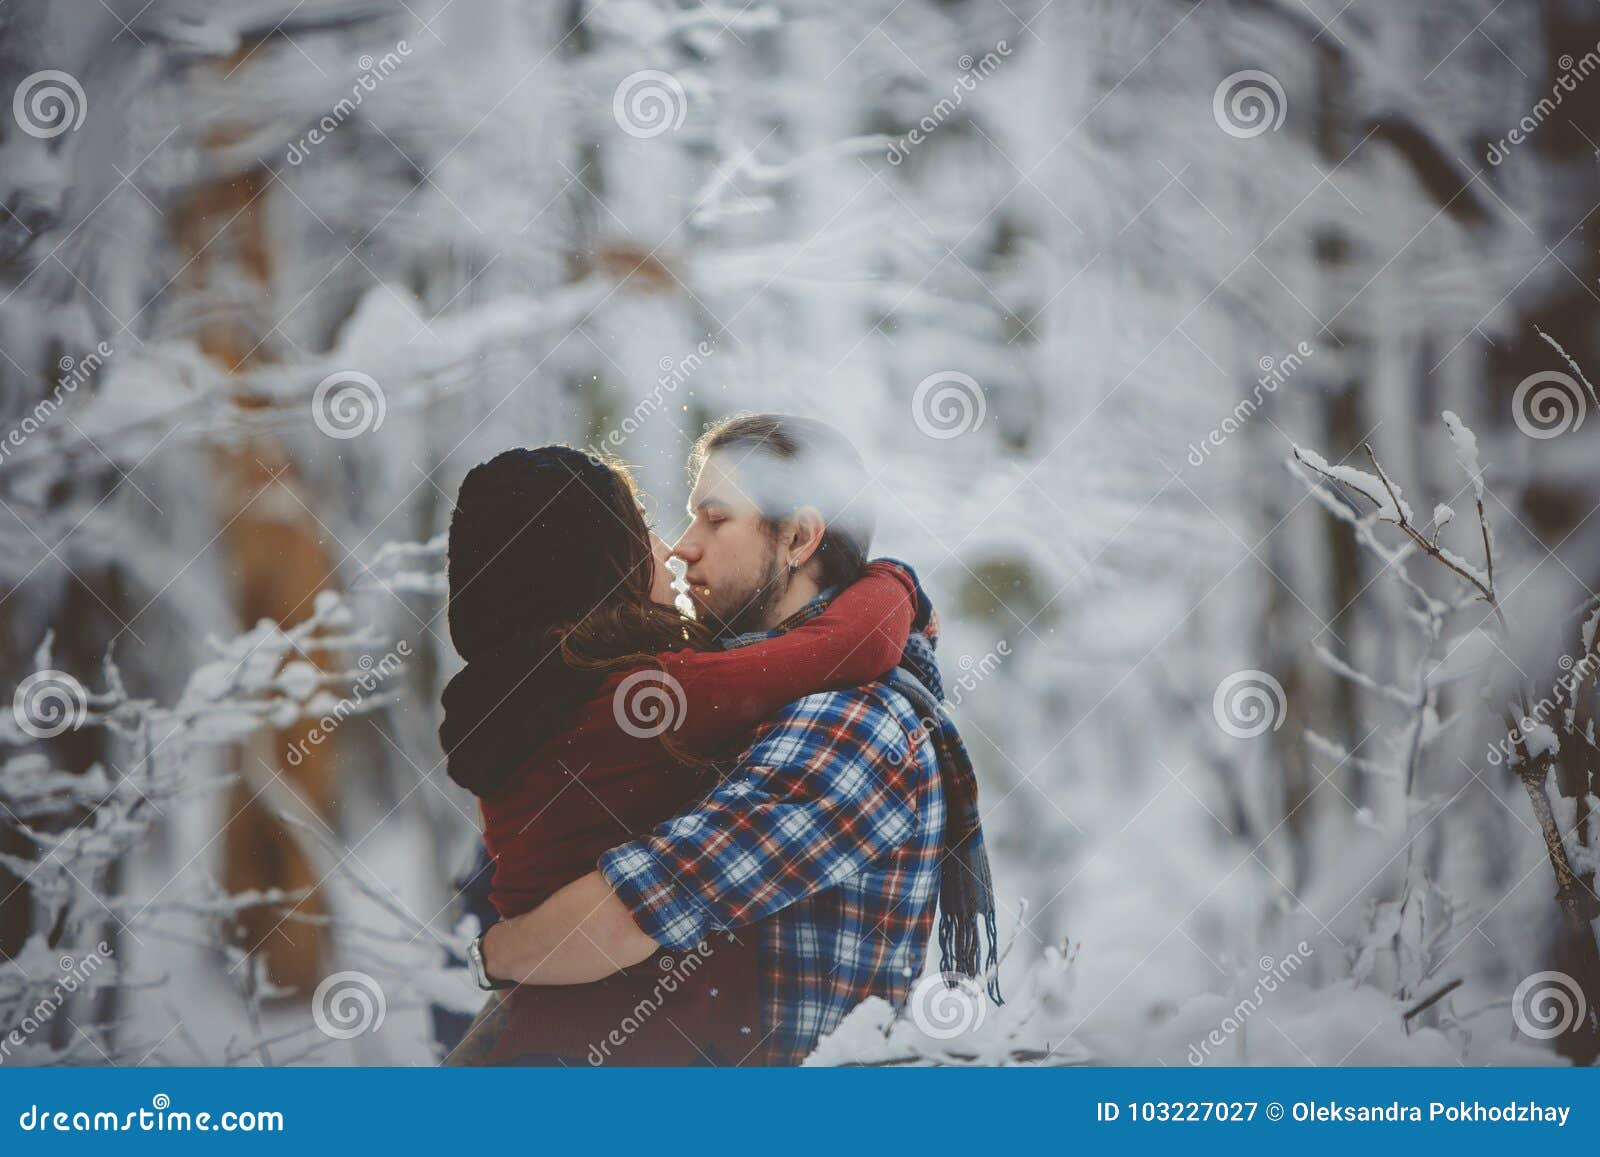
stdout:
[[(837, 887), (918, 827), (938, 775), (870, 691), (779, 712), (704, 800), (600, 856), (600, 871), (483, 936), (488, 973), (587, 984)], [(918, 728), (920, 730), (920, 728)]]

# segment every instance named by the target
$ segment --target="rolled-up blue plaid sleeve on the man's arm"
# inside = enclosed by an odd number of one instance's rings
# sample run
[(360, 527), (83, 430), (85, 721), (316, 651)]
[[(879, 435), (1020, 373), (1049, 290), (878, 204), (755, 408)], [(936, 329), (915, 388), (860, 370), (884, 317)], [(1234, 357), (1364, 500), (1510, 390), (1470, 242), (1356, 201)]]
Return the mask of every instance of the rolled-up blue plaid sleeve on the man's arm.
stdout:
[(600, 856), (640, 930), (688, 949), (832, 888), (917, 832), (915, 747), (866, 690), (786, 707), (694, 808)]

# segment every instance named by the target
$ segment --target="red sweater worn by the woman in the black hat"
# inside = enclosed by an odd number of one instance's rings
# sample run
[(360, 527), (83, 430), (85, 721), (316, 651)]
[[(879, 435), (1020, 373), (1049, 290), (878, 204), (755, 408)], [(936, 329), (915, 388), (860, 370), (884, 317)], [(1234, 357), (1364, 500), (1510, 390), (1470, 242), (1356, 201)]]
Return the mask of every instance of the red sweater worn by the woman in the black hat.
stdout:
[[(680, 725), (669, 738), (702, 755), (728, 752), (795, 699), (877, 679), (901, 658), (914, 597), (904, 571), (872, 563), (822, 615), (787, 634), (731, 651), (656, 656), (683, 688), (670, 704)], [(613, 698), (635, 671), (613, 672), (562, 735), (482, 802), (494, 859), (490, 899), (501, 917), (538, 907), (594, 871), (603, 851), (709, 789), (707, 771), (619, 725)], [(579, 1064), (741, 1063), (760, 1042), (752, 933), (741, 930), (739, 943), (717, 933), (702, 952), (658, 952), (594, 984), (517, 987), (493, 1061), (549, 1053)]]

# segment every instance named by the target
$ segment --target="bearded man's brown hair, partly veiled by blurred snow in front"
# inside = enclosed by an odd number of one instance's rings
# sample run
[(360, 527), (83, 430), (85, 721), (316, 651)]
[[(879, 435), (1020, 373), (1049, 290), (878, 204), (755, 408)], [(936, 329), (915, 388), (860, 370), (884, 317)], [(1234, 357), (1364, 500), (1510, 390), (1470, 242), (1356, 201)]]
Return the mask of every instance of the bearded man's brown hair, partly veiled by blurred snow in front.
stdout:
[(726, 454), (770, 526), (802, 506), (822, 514), (818, 547), (824, 587), (861, 578), (877, 515), (867, 464), (850, 438), (827, 422), (795, 414), (734, 414), (706, 427), (690, 453), (690, 474), (712, 454)]

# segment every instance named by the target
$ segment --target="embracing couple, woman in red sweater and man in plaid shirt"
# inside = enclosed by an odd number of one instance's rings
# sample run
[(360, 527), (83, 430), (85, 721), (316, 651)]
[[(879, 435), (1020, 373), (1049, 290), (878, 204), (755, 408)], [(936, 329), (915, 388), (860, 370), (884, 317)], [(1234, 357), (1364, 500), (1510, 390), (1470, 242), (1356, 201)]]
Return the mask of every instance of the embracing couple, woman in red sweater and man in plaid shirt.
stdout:
[(690, 470), (672, 547), (568, 446), (461, 483), (440, 743), (498, 920), (446, 1064), (798, 1064), (867, 997), (904, 1008), (934, 925), (942, 983), (998, 1002), (978, 783), (933, 608), (869, 562), (861, 454), (746, 414)]

